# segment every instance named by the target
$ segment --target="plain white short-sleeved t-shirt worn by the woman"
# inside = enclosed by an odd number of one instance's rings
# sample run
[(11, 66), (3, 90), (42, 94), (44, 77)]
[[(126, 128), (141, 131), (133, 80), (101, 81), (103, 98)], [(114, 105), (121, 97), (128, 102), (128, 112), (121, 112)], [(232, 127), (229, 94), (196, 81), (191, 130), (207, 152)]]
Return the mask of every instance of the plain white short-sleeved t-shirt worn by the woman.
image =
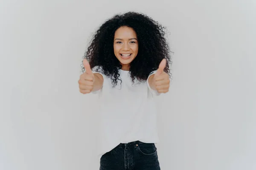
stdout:
[[(100, 73), (94, 67), (93, 73)], [(152, 74), (154, 74), (154, 71)], [(101, 74), (101, 73), (100, 73)], [(129, 71), (119, 69), (119, 79), (113, 88), (111, 78), (102, 74), (104, 82), (99, 91), (99, 158), (120, 143), (141, 141), (157, 143), (157, 110), (153, 97), (160, 95), (150, 88), (148, 80), (134, 84)], [(150, 74), (151, 75), (151, 74)], [(150, 76), (149, 75), (149, 76)], [(148, 76), (148, 77), (149, 77)]]

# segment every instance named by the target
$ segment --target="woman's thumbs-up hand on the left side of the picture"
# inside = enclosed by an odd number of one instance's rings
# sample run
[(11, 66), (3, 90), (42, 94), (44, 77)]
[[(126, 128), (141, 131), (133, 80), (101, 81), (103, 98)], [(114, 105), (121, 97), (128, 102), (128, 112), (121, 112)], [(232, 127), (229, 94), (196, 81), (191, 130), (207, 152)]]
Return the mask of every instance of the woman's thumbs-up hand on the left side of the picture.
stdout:
[(80, 79), (78, 81), (79, 90), (82, 94), (88, 94), (93, 90), (93, 83), (95, 81), (95, 77), (87, 59), (83, 60), (83, 64), (85, 73), (81, 74)]

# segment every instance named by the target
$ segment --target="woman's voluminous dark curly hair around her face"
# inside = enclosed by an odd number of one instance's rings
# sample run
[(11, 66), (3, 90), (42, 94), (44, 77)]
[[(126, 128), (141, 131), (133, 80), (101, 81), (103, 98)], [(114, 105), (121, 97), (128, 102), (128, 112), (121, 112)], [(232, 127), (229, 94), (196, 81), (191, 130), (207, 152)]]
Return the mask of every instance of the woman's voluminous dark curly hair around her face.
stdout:
[[(162, 59), (167, 60), (164, 71), (171, 75), (169, 65), (172, 62), (165, 27), (151, 17), (137, 12), (115, 15), (100, 26), (83, 57), (89, 61), (91, 68), (102, 67), (101, 71), (97, 71), (111, 77), (113, 86), (120, 80), (118, 70), (122, 65), (115, 57), (113, 42), (115, 31), (122, 26), (133, 28), (138, 38), (138, 54), (130, 64), (132, 82), (134, 83), (135, 77), (140, 82), (147, 80), (148, 75), (157, 70)], [(84, 72), (82, 64), (81, 67)]]

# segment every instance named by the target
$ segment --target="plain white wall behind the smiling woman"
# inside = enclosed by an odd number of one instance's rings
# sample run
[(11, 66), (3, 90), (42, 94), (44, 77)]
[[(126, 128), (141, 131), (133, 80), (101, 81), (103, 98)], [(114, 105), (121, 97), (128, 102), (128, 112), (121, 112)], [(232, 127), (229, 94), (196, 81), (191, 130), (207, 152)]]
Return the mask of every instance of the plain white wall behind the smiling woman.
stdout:
[[(93, 31), (135, 10), (169, 29), (159, 104), (163, 170), (256, 169), (253, 0), (0, 2), (0, 170), (96, 170), (96, 98), (79, 94)], [(93, 99), (91, 99), (93, 98)]]

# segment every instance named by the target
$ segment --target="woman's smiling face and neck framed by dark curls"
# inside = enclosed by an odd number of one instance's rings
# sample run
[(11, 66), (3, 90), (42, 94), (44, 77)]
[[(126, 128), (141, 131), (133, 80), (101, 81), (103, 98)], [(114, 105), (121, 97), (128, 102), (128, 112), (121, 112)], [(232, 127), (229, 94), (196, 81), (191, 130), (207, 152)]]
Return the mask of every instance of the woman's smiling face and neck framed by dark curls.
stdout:
[(128, 71), (130, 63), (138, 54), (137, 34), (133, 28), (122, 26), (114, 35), (114, 54), (122, 65), (122, 70)]

